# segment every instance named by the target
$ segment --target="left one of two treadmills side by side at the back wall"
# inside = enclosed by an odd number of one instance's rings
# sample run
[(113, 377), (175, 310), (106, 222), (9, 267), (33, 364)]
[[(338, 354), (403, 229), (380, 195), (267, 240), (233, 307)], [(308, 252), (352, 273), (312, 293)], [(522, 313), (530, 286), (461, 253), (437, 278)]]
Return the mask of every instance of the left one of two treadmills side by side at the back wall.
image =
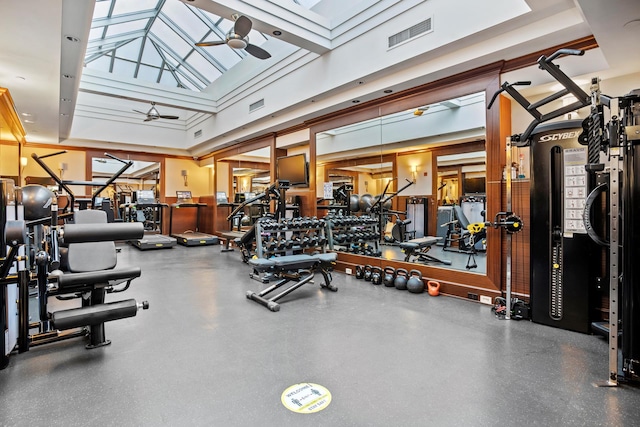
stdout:
[[(129, 243), (142, 251), (149, 249), (171, 249), (174, 247), (177, 240), (173, 237), (165, 236), (158, 231), (162, 230), (162, 209), (168, 205), (166, 203), (157, 203), (153, 190), (137, 190), (135, 196), (136, 202), (132, 207), (135, 207), (136, 215), (141, 215), (140, 218), (137, 218), (137, 221), (144, 223), (145, 231), (141, 239), (130, 240)], [(151, 221), (147, 221), (144, 217), (143, 210), (145, 208), (153, 209), (153, 219)]]

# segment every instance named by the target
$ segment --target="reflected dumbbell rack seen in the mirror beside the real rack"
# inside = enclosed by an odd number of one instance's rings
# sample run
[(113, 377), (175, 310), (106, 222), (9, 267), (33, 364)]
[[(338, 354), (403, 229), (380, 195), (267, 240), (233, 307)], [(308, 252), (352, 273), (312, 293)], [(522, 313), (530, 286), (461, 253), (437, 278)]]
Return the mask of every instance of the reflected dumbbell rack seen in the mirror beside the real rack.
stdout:
[(378, 220), (367, 215), (327, 216), (330, 250), (380, 256)]

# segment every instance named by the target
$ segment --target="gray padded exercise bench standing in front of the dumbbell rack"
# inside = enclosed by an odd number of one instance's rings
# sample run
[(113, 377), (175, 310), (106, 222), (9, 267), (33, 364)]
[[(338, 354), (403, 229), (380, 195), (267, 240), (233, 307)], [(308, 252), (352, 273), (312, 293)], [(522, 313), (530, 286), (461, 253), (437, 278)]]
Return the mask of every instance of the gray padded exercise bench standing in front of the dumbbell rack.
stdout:
[[(270, 273), (278, 281), (259, 293), (247, 291), (247, 298), (264, 305), (271, 311), (279, 311), (280, 305), (277, 301), (306, 283), (311, 282), (317, 271), (319, 271), (324, 278), (324, 283), (321, 283), (320, 287), (336, 292), (338, 288), (331, 284), (331, 267), (337, 257), (338, 254), (336, 253), (327, 253), (316, 255), (285, 255), (269, 259), (250, 259), (249, 264), (253, 267), (254, 272)], [(289, 282), (294, 283), (289, 287), (285, 287), (280, 293), (269, 296)]]

